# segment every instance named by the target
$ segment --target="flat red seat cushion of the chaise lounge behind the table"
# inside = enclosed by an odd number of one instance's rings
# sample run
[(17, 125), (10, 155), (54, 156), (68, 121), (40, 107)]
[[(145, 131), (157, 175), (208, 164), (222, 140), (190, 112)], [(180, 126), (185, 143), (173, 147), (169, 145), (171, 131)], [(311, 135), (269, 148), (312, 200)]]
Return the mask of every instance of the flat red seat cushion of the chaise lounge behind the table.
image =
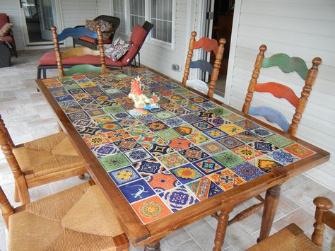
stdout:
[[(69, 59), (63, 59), (63, 64), (101, 64), (100, 57), (86, 55), (83, 57), (71, 57)], [(107, 66), (124, 66), (121, 61), (114, 62), (112, 59), (105, 57), (105, 63)], [(45, 53), (38, 61), (39, 65), (57, 65), (56, 54), (54, 52)]]

